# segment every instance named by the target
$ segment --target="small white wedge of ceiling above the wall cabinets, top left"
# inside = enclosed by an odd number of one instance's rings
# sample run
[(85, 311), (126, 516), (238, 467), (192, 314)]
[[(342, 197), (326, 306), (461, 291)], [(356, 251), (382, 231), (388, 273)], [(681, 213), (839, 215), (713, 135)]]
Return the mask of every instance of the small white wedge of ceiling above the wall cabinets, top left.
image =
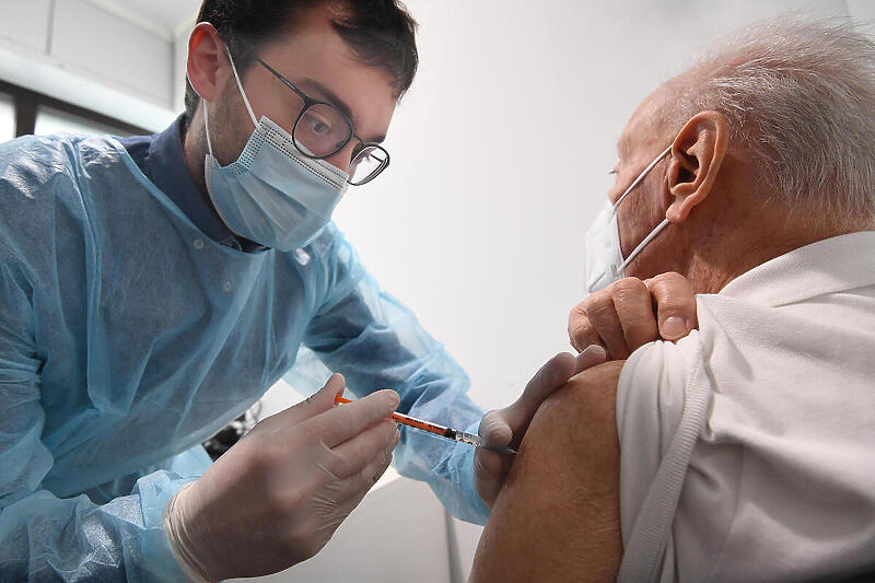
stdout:
[(195, 22), (200, 8), (200, 0), (86, 1), (167, 40)]

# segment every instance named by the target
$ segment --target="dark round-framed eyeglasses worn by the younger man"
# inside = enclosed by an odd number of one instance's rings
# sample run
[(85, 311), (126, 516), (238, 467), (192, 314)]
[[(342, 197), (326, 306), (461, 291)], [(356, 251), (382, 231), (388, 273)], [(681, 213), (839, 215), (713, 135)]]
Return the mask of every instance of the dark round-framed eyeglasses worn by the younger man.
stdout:
[(352, 121), (343, 112), (330, 103), (314, 100), (260, 58), (255, 57), (255, 60), (304, 101), (304, 107), (298, 114), (291, 131), (292, 141), (299, 152), (307, 158), (322, 160), (335, 155), (354, 138), (359, 143), (352, 150), (347, 182), (360, 186), (386, 170), (389, 165), (389, 153), (378, 143), (365, 142), (355, 136)]

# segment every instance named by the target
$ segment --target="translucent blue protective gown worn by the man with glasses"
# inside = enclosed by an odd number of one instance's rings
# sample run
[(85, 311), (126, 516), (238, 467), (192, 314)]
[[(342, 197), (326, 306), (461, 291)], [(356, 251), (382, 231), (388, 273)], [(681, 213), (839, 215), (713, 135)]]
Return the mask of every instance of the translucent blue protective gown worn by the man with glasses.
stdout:
[[(476, 432), (465, 373), (334, 224), (303, 249), (244, 253), (113, 138), (0, 145), (0, 580), (180, 580), (167, 500), (301, 347), (315, 358), (300, 376), (325, 365)], [(395, 464), (482, 523), (472, 456), (404, 431)]]

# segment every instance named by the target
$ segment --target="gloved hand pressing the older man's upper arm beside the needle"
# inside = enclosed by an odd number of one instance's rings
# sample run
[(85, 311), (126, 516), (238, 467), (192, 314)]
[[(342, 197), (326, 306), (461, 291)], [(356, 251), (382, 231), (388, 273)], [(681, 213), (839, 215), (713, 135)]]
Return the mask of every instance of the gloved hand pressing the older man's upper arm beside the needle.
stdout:
[[(598, 345), (588, 347), (576, 358), (568, 352), (555, 355), (535, 373), (523, 394), (511, 406), (493, 409), (483, 416), (480, 421), (480, 436), (487, 445), (511, 446), (514, 450), (520, 447), (523, 435), (544, 399), (575, 374), (602, 364), (605, 360), (605, 349)], [(487, 506), (492, 508), (511, 469), (513, 457), (483, 447), (478, 447), (474, 454), (474, 483)]]

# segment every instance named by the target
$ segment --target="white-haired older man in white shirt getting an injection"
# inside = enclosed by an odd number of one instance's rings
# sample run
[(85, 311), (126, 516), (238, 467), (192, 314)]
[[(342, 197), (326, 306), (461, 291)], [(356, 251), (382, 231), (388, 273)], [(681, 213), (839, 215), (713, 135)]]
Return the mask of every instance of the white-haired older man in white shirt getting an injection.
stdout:
[(585, 313), (622, 318), (611, 296), (677, 271), (699, 329), (545, 401), (472, 579), (875, 573), (875, 45), (754, 27), (639, 106), (615, 170), (587, 279), (633, 277)]

